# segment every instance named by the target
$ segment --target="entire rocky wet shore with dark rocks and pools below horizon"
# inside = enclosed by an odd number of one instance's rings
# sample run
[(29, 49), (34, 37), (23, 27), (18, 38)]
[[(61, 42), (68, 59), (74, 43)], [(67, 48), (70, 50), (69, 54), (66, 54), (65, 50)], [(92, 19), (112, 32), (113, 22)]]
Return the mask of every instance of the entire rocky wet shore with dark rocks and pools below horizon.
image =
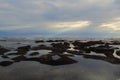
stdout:
[(0, 40), (0, 80), (119, 80), (119, 65), (118, 40)]

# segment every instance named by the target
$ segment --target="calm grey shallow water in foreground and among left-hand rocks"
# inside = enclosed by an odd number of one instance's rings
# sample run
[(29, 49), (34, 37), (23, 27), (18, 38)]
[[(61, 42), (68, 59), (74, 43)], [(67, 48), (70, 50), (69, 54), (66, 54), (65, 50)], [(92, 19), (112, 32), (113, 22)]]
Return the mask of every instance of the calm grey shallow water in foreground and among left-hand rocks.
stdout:
[[(19, 47), (17, 42), (0, 43), (5, 47)], [(25, 44), (25, 43), (24, 43)], [(27, 45), (29, 43), (26, 43)], [(29, 45), (36, 45), (34, 42)], [(29, 51), (26, 56), (34, 51)], [(42, 55), (49, 50), (38, 50)], [(40, 54), (41, 55), (41, 54)], [(34, 56), (36, 57), (36, 56)], [(11, 57), (10, 57), (11, 58)], [(52, 66), (36, 61), (20, 61), (10, 66), (0, 66), (0, 80), (120, 80), (120, 65), (103, 60), (87, 59), (75, 55), (70, 57), (78, 61), (74, 64)], [(0, 57), (0, 60), (2, 58)]]

